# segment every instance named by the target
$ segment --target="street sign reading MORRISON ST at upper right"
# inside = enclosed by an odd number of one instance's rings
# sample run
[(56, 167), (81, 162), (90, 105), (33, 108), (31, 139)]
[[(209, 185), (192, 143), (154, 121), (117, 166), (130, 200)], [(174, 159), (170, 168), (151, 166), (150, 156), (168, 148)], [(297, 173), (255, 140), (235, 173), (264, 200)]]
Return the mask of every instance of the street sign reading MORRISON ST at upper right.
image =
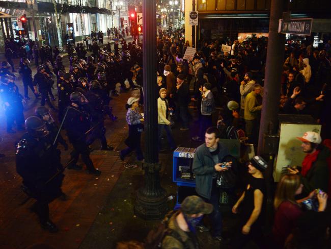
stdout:
[(312, 32), (312, 18), (298, 18), (290, 21), (279, 20), (278, 33), (292, 35), (310, 35)]

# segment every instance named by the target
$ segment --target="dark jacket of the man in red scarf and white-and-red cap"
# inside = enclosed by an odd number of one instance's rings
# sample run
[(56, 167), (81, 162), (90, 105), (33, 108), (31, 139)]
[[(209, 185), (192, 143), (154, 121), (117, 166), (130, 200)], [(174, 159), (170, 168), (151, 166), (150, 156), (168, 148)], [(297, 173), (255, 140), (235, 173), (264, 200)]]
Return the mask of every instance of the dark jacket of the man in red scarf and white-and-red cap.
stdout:
[(317, 160), (313, 162), (312, 167), (308, 170), (306, 176), (304, 177), (299, 174), (301, 183), (304, 185), (304, 192), (306, 194), (309, 194), (311, 191), (317, 188), (320, 188), (325, 192), (328, 191), (330, 174), (327, 165), (327, 159), (329, 156), (329, 148), (323, 146), (322, 150), (317, 155)]

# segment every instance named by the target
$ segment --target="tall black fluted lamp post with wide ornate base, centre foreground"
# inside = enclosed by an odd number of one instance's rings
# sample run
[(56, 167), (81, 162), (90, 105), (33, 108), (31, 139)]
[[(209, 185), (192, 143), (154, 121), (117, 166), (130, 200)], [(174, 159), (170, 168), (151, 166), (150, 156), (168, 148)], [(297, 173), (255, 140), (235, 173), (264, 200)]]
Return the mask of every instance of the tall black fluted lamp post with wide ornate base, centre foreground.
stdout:
[(157, 146), (156, 2), (143, 0), (143, 76), (146, 156), (145, 186), (137, 191), (134, 213), (144, 219), (160, 219), (168, 211), (167, 193), (160, 185)]

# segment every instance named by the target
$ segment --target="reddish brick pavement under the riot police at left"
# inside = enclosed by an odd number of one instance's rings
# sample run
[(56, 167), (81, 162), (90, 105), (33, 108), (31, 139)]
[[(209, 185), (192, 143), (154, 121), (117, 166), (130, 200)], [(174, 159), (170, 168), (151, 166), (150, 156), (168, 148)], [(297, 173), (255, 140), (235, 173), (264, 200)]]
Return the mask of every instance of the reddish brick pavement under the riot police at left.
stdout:
[[(15, 62), (18, 63), (18, 60)], [(33, 66), (34, 73), (35, 67)], [(19, 77), (16, 83), (20, 88), (20, 92), (23, 92)], [(56, 92), (54, 91), (54, 93)], [(6, 154), (5, 158), (0, 159), (1, 248), (24, 248), (36, 242), (48, 243), (56, 248), (77, 248), (79, 246), (95, 216), (102, 209), (105, 197), (112, 190), (124, 169), (116, 149), (127, 135), (124, 105), (129, 94), (124, 93), (111, 102), (111, 105), (116, 106), (114, 114), (119, 119), (115, 122), (109, 119), (105, 121), (107, 127), (106, 138), (108, 143), (115, 147), (115, 151), (102, 152), (95, 150), (91, 154), (95, 167), (102, 171), (101, 176), (88, 175), (84, 170), (65, 171), (63, 191), (67, 194), (68, 200), (55, 200), (49, 205), (50, 218), (60, 229), (57, 234), (50, 234), (40, 228), (37, 216), (29, 210), (34, 200), (30, 199), (21, 205), (26, 199), (26, 195), (20, 189), (21, 178), (16, 173), (14, 143), (24, 132), (7, 134), (5, 115), (3, 110), (0, 111), (0, 138), (3, 138), (1, 139), (3, 141), (0, 142), (0, 153)], [(30, 96), (32, 95), (30, 92)], [(37, 105), (39, 105), (39, 101), (34, 101), (32, 98), (25, 106), (25, 118), (33, 114), (34, 107)], [(62, 132), (62, 135), (66, 137), (64, 132)], [(96, 141), (92, 146), (98, 149), (100, 142)], [(69, 161), (69, 153), (70, 148), (67, 152), (62, 151), (63, 165)]]

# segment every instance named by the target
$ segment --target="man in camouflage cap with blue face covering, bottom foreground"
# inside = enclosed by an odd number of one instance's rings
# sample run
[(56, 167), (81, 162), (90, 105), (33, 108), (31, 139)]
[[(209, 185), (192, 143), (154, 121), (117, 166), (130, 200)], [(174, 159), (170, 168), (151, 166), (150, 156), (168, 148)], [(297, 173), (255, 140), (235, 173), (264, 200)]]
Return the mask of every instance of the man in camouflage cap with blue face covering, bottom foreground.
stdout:
[(162, 240), (162, 249), (198, 249), (196, 225), (212, 210), (213, 206), (199, 196), (187, 196), (168, 222), (170, 232)]

